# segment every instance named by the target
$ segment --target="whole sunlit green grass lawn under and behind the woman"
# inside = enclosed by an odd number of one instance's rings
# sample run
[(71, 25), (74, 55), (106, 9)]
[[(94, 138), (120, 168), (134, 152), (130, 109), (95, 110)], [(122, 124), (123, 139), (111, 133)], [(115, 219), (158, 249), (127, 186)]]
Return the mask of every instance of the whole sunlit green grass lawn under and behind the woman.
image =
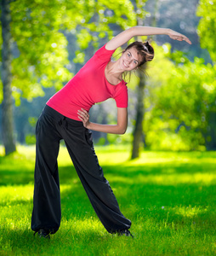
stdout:
[(0, 255), (216, 254), (216, 152), (143, 152), (129, 161), (128, 148), (96, 148), (132, 220), (132, 239), (106, 232), (60, 148), (62, 221), (50, 241), (34, 237), (30, 227), (34, 152), (19, 147), (0, 156)]

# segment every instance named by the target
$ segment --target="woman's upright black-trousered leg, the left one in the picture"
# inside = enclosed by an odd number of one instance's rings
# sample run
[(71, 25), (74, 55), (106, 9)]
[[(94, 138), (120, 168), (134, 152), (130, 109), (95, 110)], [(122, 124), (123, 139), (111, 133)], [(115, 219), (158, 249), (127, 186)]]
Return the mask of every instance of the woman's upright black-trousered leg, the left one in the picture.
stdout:
[(41, 114), (36, 127), (35, 187), (31, 229), (55, 233), (60, 228), (60, 181), (57, 157), (60, 133), (54, 119), (46, 111)]

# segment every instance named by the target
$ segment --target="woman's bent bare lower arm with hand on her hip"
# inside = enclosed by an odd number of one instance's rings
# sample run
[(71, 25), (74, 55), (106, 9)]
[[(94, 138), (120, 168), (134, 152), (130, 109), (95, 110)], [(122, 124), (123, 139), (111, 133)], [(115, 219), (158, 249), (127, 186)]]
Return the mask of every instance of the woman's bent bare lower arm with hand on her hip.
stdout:
[(86, 110), (78, 110), (78, 117), (82, 120), (83, 126), (105, 133), (124, 134), (128, 126), (128, 108), (117, 108), (117, 125), (100, 125), (89, 121), (89, 114)]

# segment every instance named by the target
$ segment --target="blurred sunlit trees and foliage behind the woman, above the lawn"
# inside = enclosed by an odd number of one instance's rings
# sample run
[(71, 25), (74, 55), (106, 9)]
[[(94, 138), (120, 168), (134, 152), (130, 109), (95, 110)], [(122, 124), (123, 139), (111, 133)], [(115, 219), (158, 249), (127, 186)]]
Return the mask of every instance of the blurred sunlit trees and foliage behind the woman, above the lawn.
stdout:
[[(141, 150), (216, 149), (215, 0), (24, 0), (1, 2), (0, 144), (5, 154), (35, 143), (35, 125), (48, 98), (94, 52), (130, 26), (158, 26), (185, 34), (149, 40), (155, 59), (128, 81), (128, 131), (94, 132), (98, 145)], [(131, 40), (131, 41), (133, 41)], [(119, 57), (117, 49), (114, 54)], [(90, 120), (117, 121), (114, 100), (95, 104)]]

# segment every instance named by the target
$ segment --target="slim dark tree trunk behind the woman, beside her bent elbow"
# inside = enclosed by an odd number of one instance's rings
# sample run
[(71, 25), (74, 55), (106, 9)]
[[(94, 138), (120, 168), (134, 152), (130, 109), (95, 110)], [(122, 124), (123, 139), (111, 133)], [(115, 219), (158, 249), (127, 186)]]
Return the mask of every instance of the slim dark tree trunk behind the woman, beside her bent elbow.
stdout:
[(134, 140), (131, 159), (139, 157), (139, 148), (142, 147), (143, 141), (143, 120), (144, 120), (144, 88), (145, 74), (139, 72), (139, 84), (137, 86), (137, 106), (136, 106), (136, 123), (134, 126)]

